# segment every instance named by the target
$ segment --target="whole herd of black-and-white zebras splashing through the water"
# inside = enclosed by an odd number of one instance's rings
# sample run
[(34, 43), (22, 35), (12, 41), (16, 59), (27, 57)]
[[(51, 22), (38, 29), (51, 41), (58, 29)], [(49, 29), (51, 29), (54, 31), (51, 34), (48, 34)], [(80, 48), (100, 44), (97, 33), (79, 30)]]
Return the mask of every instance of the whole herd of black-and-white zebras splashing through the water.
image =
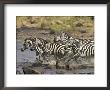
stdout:
[[(61, 32), (60, 35), (54, 36), (52, 41), (35, 37), (26, 38), (21, 51), (26, 49), (35, 51), (38, 61), (48, 61), (46, 57), (53, 55), (56, 59), (56, 68), (58, 68), (58, 63), (62, 60), (65, 62), (66, 67), (69, 68), (71, 60), (77, 61), (79, 57), (94, 57), (94, 40), (78, 39)], [(41, 57), (43, 60), (41, 60)]]

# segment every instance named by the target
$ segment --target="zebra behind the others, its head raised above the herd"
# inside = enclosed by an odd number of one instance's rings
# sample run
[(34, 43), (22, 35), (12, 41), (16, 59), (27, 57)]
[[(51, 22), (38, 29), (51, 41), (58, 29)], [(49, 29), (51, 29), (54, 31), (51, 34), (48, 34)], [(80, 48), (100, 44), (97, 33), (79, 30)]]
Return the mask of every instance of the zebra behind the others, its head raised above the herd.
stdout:
[[(57, 38), (57, 37), (56, 37)], [(58, 39), (56, 41), (60, 41), (65, 43), (65, 45), (72, 46), (75, 50), (79, 50), (82, 47), (84, 47), (86, 44), (94, 43), (94, 40), (92, 39), (79, 39), (79, 38), (73, 38), (69, 36), (67, 33), (63, 32), (60, 36), (58, 36)], [(55, 40), (54, 40), (55, 41)], [(73, 49), (73, 50), (74, 50)], [(82, 50), (83, 51), (83, 50)], [(75, 51), (76, 52), (76, 51)]]

